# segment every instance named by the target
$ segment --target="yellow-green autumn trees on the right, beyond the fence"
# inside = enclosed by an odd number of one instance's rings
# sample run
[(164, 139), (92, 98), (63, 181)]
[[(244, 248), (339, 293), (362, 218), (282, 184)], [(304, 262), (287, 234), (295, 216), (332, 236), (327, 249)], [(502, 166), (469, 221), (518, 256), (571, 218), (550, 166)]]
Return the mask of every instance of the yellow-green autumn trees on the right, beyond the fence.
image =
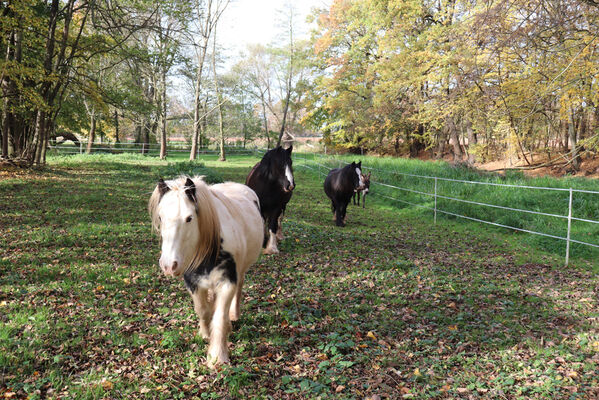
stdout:
[(316, 21), (305, 122), (330, 147), (442, 155), (478, 135), (488, 160), (595, 136), (593, 5), (336, 0)]

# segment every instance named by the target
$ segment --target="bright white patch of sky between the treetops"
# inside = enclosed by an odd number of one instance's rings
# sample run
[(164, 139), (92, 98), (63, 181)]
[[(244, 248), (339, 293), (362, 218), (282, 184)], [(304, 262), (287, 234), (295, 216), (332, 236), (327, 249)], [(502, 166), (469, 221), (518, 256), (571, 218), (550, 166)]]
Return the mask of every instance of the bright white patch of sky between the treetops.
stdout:
[[(293, 6), (298, 12), (298, 38), (308, 38), (310, 26), (306, 17), (313, 7), (328, 8), (332, 0), (295, 0)], [(230, 56), (237, 56), (247, 44), (269, 44), (273, 42), (281, 28), (277, 26), (278, 10), (285, 0), (234, 0), (222, 15), (218, 25), (217, 40), (229, 49)]]

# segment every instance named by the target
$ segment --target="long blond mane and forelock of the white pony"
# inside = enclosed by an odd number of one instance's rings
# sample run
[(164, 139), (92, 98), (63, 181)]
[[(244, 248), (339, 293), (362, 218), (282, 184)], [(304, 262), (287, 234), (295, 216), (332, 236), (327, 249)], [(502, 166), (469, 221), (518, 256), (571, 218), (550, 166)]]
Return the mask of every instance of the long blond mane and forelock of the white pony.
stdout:
[[(187, 201), (191, 201), (186, 193), (185, 182), (186, 176), (179, 177), (172, 181), (167, 181), (166, 184), (170, 191), (177, 192), (179, 196), (184, 196)], [(197, 223), (199, 234), (199, 242), (197, 243), (196, 255), (190, 264), (190, 267), (200, 265), (204, 260), (218, 257), (220, 249), (220, 221), (218, 213), (214, 205), (214, 199), (225, 203), (227, 208), (230, 208), (228, 199), (223, 199), (225, 196), (216, 196), (210, 186), (206, 185), (202, 176), (192, 178), (195, 185), (195, 207), (197, 210)], [(152, 219), (152, 228), (157, 233), (160, 233), (160, 220), (158, 217), (158, 206), (163, 194), (160, 193), (158, 186), (154, 189), (150, 201), (148, 203), (148, 211)]]

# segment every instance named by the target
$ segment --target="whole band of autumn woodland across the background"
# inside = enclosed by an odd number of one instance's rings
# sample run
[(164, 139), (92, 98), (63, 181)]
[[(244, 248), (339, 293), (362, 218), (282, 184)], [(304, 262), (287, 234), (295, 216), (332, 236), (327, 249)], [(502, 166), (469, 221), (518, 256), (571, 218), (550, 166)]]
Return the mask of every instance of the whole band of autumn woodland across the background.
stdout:
[(0, 3), (2, 159), (56, 138), (508, 160), (576, 171), (599, 147), (599, 3), (334, 0), (225, 57), (229, 0)]

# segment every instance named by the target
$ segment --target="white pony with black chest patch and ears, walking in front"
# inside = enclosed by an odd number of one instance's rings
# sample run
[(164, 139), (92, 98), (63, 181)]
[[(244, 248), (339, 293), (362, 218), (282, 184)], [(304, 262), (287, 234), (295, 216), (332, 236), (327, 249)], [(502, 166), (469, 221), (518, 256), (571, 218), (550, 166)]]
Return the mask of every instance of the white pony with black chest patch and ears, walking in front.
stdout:
[(245, 272), (262, 249), (258, 196), (234, 182), (160, 179), (148, 210), (162, 237), (160, 268), (165, 275), (183, 275), (200, 335), (209, 339), (208, 365), (228, 363), (227, 337), (231, 320), (239, 318)]

